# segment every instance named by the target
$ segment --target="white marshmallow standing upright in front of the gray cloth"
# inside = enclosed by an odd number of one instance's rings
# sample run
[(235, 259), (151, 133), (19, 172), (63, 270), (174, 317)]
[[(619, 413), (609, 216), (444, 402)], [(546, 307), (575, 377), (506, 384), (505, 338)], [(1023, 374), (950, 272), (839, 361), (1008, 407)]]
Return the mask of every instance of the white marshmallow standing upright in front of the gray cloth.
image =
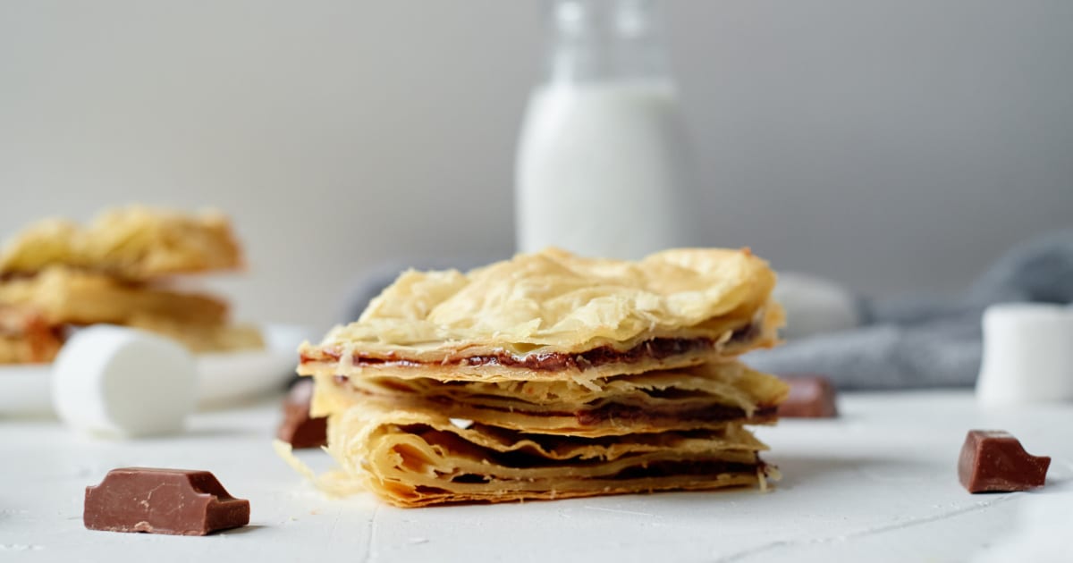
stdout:
[(1073, 311), (1002, 303), (984, 311), (976, 399), (988, 405), (1073, 400)]

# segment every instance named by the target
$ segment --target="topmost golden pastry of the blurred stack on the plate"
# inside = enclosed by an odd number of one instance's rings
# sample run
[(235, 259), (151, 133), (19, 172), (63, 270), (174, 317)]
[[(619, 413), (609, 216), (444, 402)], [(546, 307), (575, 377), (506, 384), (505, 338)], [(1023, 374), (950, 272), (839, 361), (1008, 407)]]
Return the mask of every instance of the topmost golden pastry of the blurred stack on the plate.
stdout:
[(47, 219), (0, 250), (0, 275), (71, 266), (128, 280), (235, 269), (241, 253), (227, 218), (131, 206), (106, 211), (88, 226)]

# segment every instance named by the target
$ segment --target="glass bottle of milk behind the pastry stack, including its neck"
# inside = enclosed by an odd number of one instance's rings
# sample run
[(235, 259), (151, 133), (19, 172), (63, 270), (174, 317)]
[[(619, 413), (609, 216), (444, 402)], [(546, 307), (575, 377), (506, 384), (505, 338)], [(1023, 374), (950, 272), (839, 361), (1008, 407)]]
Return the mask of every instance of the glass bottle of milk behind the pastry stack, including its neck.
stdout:
[(549, 76), (518, 145), (518, 250), (638, 258), (690, 245), (687, 147), (659, 4), (557, 0), (552, 10)]

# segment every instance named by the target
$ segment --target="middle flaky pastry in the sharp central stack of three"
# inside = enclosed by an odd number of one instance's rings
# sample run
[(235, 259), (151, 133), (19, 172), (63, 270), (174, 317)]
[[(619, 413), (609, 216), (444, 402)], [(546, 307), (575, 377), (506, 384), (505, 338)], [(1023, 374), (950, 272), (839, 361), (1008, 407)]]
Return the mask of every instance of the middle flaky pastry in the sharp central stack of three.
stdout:
[(777, 377), (739, 362), (621, 375), (599, 383), (599, 389), (590, 389), (567, 381), (318, 376), (313, 412), (327, 415), (376, 404), (511, 430), (598, 438), (768, 424), (788, 392)]

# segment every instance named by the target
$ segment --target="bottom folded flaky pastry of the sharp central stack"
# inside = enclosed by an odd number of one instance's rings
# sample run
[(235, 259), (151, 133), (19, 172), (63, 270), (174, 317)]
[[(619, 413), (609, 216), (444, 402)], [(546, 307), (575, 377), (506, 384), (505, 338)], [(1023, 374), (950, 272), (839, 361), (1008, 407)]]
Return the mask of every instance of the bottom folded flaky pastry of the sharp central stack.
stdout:
[(397, 506), (550, 500), (765, 484), (767, 447), (740, 426), (612, 439), (460, 428), (430, 412), (365, 405), (328, 419), (328, 450)]

